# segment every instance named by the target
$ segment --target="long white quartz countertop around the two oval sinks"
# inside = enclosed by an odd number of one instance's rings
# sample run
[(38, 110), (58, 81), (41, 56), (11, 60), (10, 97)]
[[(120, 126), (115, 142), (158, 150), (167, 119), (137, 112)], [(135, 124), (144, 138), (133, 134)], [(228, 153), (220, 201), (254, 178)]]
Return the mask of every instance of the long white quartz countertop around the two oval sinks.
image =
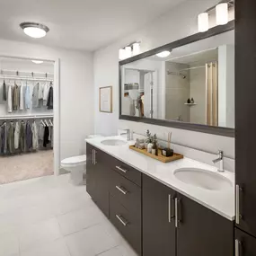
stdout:
[(200, 168), (211, 172), (217, 172), (216, 167), (206, 163), (200, 163), (187, 157), (171, 163), (162, 163), (129, 149), (128, 146), (134, 145), (134, 142), (128, 142), (128, 144), (124, 146), (106, 146), (101, 143), (102, 140), (105, 139), (125, 140), (123, 137), (118, 136), (88, 138), (85, 139), (85, 141), (114, 156), (120, 161), (128, 163), (139, 172), (143, 172), (154, 180), (160, 181), (171, 189), (197, 201), (202, 206), (215, 211), (217, 214), (224, 216), (229, 220), (234, 220), (234, 173), (218, 172), (218, 174), (223, 175), (225, 178), (232, 181), (232, 188), (226, 190), (202, 189), (178, 180), (174, 176), (174, 171), (179, 168)]

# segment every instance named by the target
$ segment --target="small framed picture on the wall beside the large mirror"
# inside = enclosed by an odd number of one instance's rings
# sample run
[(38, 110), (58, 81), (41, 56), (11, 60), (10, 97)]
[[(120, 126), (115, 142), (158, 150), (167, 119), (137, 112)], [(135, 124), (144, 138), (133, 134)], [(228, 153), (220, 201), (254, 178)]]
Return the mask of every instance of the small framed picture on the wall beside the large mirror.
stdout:
[(112, 113), (112, 86), (100, 87), (100, 112)]

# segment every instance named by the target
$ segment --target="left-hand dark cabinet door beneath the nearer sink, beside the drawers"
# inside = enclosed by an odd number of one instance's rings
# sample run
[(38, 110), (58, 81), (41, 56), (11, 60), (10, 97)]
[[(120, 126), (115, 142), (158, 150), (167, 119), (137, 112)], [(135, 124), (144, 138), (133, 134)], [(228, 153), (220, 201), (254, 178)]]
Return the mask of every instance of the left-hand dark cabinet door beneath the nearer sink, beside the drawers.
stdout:
[(174, 197), (173, 190), (143, 175), (144, 256), (175, 256)]

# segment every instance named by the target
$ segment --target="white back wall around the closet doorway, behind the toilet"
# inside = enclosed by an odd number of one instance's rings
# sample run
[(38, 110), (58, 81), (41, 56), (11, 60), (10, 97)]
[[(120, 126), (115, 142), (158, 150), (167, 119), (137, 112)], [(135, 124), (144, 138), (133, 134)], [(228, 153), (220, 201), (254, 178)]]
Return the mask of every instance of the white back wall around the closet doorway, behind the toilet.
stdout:
[(93, 54), (0, 40), (0, 56), (60, 59), (60, 158), (83, 153), (93, 133)]

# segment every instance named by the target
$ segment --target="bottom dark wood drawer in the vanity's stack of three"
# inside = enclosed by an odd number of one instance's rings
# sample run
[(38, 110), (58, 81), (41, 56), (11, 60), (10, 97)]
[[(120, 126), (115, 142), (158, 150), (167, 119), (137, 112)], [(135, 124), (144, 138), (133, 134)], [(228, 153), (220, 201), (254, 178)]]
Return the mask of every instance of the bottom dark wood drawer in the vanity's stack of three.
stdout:
[(141, 217), (128, 212), (117, 199), (110, 196), (110, 221), (141, 255)]

